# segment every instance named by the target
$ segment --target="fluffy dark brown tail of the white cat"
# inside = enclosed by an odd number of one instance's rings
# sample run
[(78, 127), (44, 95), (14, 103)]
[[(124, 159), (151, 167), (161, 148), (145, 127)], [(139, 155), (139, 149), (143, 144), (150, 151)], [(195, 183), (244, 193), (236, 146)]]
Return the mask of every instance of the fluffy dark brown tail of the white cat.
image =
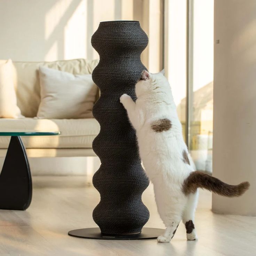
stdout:
[(239, 197), (249, 189), (249, 186), (248, 181), (238, 185), (229, 185), (201, 171), (193, 171), (184, 181), (183, 192), (184, 194), (194, 193), (200, 187), (224, 197)]

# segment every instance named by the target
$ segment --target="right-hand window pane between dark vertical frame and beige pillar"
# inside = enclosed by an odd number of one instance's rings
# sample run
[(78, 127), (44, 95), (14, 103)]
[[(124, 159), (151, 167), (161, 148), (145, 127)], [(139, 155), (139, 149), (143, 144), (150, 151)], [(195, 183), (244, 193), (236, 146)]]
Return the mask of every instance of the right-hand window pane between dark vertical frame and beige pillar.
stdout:
[(189, 8), (188, 146), (198, 170), (212, 171), (214, 0)]

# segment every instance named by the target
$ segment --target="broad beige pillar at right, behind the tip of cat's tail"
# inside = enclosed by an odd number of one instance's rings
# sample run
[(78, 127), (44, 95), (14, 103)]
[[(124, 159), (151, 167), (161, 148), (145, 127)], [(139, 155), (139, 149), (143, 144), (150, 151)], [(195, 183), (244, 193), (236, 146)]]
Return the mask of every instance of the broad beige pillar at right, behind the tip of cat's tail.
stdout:
[(215, 0), (214, 11), (213, 175), (251, 187), (213, 195), (213, 211), (256, 216), (256, 1)]

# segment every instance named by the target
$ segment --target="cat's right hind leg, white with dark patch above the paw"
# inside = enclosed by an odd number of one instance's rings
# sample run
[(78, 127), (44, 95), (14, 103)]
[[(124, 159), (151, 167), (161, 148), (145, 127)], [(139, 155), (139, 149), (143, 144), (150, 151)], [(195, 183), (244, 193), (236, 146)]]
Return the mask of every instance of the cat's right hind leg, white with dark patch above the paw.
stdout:
[(195, 209), (197, 208), (198, 190), (195, 193), (188, 195), (187, 205), (184, 209), (182, 221), (186, 227), (187, 240), (197, 240), (197, 233), (195, 231), (194, 219)]

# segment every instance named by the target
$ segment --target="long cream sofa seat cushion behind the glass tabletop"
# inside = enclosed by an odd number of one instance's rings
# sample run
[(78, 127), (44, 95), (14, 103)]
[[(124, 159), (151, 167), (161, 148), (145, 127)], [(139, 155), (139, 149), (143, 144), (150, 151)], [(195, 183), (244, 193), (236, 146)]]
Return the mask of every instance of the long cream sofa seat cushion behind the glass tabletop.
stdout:
[[(91, 148), (99, 133), (99, 123), (94, 118), (85, 119), (0, 119), (1, 130), (8, 131), (61, 131), (60, 136), (22, 137), (27, 149)], [(10, 128), (11, 127), (11, 128)], [(0, 149), (7, 149), (10, 138), (0, 136)]]

